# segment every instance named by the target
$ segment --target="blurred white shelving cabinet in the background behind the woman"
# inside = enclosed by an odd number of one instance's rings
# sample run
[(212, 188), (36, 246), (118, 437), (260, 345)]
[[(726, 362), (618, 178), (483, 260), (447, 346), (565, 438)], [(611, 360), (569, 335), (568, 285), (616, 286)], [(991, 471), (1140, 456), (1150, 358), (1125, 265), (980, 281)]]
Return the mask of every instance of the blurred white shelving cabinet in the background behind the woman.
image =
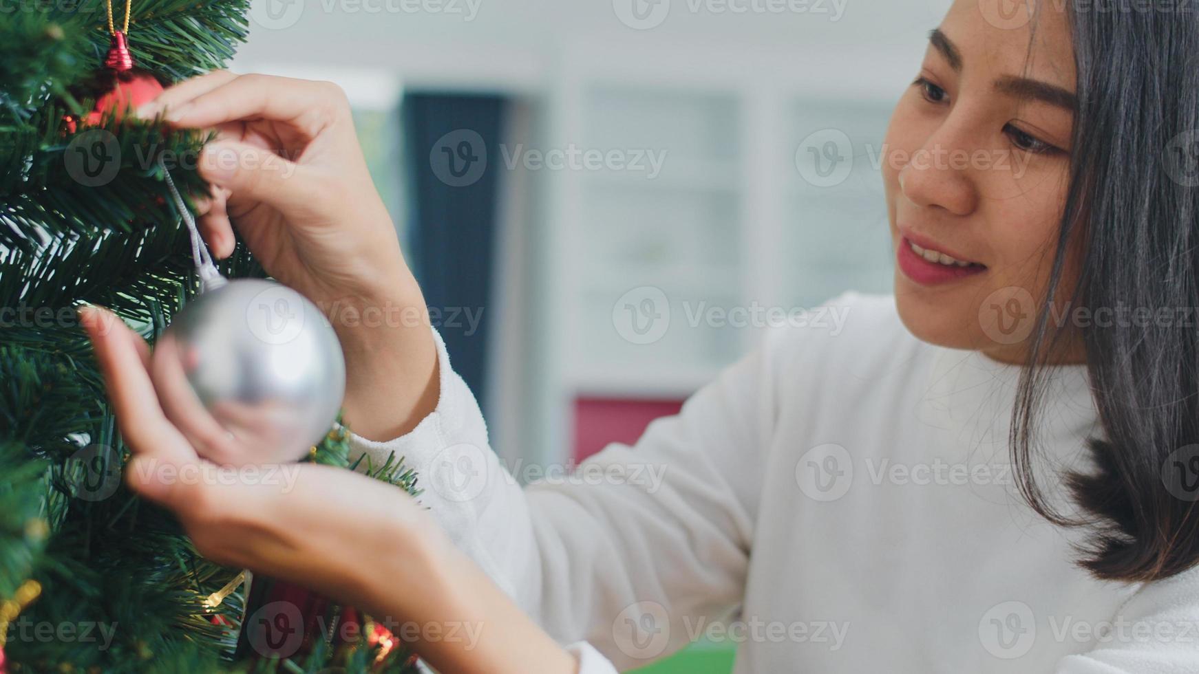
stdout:
[[(544, 362), (530, 417), (542, 427), (529, 435), (536, 450), (523, 455), (567, 460), (580, 396), (682, 399), (757, 344), (753, 328), (695, 324), (700, 306), (791, 309), (850, 289), (888, 291), (879, 169), (894, 93), (746, 71), (729, 54), (694, 48), (568, 49), (552, 87), (547, 146), (667, 156), (653, 180), (602, 170), (549, 178), (536, 267), (546, 291), (538, 304), (552, 320), (537, 326)], [(839, 145), (820, 142), (817, 152), (852, 156), (833, 186), (813, 184), (797, 165), (811, 154), (805, 139), (825, 129), (848, 142), (837, 136)], [(669, 328), (651, 344), (627, 339), (614, 317), (617, 300), (644, 287), (669, 305)], [(641, 300), (628, 310), (640, 311)]]

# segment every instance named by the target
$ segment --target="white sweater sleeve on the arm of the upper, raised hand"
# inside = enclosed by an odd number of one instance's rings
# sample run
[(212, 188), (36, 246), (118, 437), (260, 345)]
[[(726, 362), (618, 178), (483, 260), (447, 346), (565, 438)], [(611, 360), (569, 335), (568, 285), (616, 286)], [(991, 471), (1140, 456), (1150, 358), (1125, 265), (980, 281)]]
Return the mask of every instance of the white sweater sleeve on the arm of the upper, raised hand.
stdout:
[(626, 669), (686, 645), (700, 618), (736, 608), (771, 407), (761, 354), (652, 423), (634, 445), (609, 445), (522, 490), (489, 449), (440, 336), (436, 344), (434, 412), (387, 442), (351, 435), (353, 457), (404, 457), (418, 472), (421, 503), (454, 544), (559, 643), (588, 642)]

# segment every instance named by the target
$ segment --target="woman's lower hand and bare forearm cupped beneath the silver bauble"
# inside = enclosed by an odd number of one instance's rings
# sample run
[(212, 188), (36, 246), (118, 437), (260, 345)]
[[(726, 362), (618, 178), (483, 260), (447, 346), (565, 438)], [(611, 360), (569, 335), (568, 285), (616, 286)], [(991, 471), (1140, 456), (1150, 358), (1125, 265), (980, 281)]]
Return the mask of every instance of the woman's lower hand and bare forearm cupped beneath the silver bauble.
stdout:
[(134, 454), (126, 480), (173, 510), (200, 554), (312, 588), (376, 619), (415, 623), (420, 634), (436, 636), (412, 645), (440, 672), (578, 669), (405, 492), (315, 464), (218, 472), (163, 414), (145, 341), (100, 309), (80, 311), (80, 322)]

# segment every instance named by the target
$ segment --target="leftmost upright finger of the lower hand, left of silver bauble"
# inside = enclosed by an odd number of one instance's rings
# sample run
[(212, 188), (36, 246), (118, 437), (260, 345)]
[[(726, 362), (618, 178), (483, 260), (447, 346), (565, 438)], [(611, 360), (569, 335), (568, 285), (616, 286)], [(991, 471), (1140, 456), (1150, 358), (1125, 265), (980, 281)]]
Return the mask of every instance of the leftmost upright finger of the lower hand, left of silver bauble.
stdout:
[(125, 442), (134, 451), (165, 461), (194, 461), (195, 453), (158, 405), (146, 370), (150, 352), (145, 341), (103, 309), (85, 306), (79, 320), (95, 347)]

